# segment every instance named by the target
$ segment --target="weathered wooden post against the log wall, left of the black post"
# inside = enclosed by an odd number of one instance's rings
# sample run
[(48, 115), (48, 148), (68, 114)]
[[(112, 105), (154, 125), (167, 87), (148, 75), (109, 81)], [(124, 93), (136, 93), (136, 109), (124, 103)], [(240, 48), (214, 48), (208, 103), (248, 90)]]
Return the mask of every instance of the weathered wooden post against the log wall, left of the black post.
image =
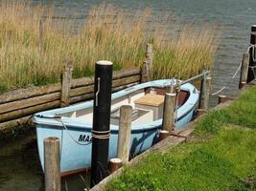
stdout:
[(61, 96), (60, 96), (60, 107), (69, 105), (69, 91), (72, 79), (72, 61), (68, 60), (64, 64), (64, 70), (61, 75)]

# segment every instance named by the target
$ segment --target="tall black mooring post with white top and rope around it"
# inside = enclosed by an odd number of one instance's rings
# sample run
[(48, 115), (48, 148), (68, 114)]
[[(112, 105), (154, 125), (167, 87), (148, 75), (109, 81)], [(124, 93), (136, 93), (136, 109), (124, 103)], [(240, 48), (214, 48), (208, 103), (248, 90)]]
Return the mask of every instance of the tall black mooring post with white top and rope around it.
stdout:
[(105, 60), (95, 65), (91, 187), (108, 175), (112, 65), (112, 62)]

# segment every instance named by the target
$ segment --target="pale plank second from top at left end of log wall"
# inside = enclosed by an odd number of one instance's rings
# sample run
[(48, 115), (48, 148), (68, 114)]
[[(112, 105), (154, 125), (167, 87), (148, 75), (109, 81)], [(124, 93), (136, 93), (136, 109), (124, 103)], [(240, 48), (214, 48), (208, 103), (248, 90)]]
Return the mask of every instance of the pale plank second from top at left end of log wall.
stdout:
[(0, 105), (0, 114), (12, 112), (12, 111), (19, 110), (22, 108), (28, 108), (31, 106), (51, 102), (54, 100), (58, 100), (59, 97), (60, 97), (60, 93), (58, 92), (58, 93), (53, 93), (50, 95), (35, 96), (32, 98), (27, 98), (27, 99), (23, 99), (23, 100), (4, 103), (4, 104)]

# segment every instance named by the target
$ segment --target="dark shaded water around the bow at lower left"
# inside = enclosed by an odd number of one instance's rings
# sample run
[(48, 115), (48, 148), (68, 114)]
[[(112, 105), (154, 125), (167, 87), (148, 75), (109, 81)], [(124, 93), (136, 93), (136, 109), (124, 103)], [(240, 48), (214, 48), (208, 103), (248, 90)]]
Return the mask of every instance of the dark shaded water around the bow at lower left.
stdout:
[[(43, 191), (35, 131), (0, 142), (0, 191)], [(61, 180), (62, 191), (84, 190), (89, 175), (79, 174)]]

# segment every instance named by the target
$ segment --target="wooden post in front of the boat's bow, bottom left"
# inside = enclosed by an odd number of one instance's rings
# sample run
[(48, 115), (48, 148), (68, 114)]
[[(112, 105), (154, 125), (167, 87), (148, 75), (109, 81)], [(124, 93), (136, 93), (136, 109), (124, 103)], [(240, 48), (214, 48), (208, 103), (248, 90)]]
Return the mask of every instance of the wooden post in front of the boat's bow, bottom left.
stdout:
[(60, 161), (58, 138), (44, 138), (45, 191), (60, 191)]

